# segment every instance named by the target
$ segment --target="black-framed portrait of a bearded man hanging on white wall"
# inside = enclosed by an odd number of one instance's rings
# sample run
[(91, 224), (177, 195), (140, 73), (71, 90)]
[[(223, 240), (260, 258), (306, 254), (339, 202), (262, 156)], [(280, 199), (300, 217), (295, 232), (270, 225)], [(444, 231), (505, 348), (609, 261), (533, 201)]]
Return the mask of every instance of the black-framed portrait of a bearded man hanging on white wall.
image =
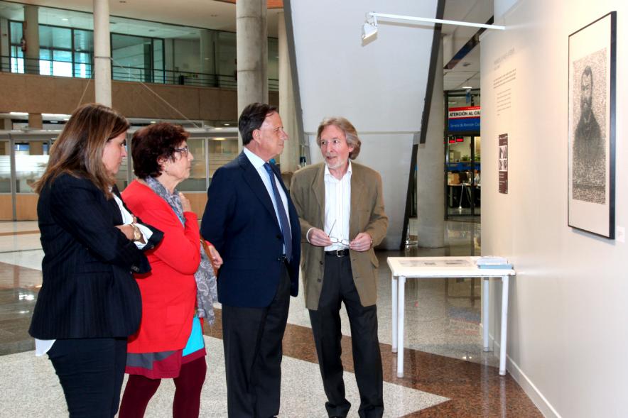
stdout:
[(617, 12), (569, 35), (568, 225), (615, 238)]

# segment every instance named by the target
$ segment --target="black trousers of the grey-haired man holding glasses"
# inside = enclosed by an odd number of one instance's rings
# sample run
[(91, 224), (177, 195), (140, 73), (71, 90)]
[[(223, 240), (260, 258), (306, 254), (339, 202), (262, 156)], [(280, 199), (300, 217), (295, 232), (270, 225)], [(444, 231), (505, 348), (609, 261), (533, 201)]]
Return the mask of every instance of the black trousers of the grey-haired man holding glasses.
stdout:
[(351, 407), (342, 379), (340, 303), (344, 302), (351, 326), (355, 378), (360, 396), (359, 417), (384, 414), (381, 353), (377, 338), (377, 306), (363, 307), (353, 282), (349, 257), (325, 255), (323, 290), (318, 310), (310, 309), (316, 353), (327, 395), (327, 414), (346, 417)]

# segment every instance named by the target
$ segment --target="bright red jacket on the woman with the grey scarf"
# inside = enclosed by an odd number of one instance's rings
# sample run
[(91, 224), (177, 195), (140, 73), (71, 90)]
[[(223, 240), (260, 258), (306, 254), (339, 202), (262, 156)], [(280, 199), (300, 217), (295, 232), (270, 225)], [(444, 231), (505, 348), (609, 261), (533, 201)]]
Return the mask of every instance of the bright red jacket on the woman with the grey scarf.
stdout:
[(171, 351), (185, 347), (196, 304), (194, 273), (200, 263), (200, 235), (194, 212), (177, 215), (153, 190), (134, 180), (124, 189), (126, 206), (163, 231), (163, 241), (148, 251), (151, 273), (135, 275), (142, 298), (139, 330), (129, 336), (129, 353)]

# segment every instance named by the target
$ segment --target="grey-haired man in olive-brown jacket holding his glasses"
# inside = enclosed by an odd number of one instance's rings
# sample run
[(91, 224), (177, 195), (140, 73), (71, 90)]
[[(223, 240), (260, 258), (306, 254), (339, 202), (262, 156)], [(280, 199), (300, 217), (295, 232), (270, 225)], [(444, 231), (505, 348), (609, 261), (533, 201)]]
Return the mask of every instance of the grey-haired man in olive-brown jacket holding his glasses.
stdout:
[(377, 339), (377, 266), (373, 247), (386, 236), (388, 217), (379, 174), (352, 163), (360, 149), (354, 126), (325, 119), (317, 142), (325, 163), (295, 173), (291, 197), (301, 223), (305, 306), (318, 353), (330, 417), (346, 417), (340, 361), (340, 304), (351, 325), (359, 417), (381, 417), (381, 354)]

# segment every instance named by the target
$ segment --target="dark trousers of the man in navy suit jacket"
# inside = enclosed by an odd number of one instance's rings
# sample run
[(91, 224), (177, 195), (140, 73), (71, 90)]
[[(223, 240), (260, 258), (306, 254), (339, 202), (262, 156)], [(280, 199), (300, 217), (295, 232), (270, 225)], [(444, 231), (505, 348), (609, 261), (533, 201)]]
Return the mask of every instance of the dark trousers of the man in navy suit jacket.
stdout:
[(269, 418), (279, 413), (281, 341), (290, 307), (290, 277), (286, 268), (282, 272), (269, 307), (222, 305), (229, 417)]

